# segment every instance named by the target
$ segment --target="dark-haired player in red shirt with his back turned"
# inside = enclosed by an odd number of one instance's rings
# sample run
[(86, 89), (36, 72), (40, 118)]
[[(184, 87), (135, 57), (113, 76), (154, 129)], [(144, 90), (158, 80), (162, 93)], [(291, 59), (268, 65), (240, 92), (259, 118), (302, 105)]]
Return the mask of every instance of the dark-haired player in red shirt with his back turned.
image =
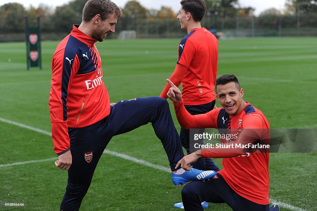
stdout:
[[(218, 40), (206, 28), (201, 26), (201, 20), (206, 12), (204, 0), (182, 0), (177, 19), (186, 35), (178, 46), (178, 60), (170, 80), (178, 87), (182, 83), (182, 95), (186, 110), (192, 114), (204, 114), (215, 107), (214, 92), (217, 77)], [(167, 98), (166, 93), (171, 88), (166, 84), (160, 97)], [(180, 138), (187, 154), (190, 154), (189, 130), (183, 127)], [(202, 140), (200, 140), (202, 142)], [(199, 158), (192, 164), (200, 170), (215, 170), (219, 168), (210, 158)]]

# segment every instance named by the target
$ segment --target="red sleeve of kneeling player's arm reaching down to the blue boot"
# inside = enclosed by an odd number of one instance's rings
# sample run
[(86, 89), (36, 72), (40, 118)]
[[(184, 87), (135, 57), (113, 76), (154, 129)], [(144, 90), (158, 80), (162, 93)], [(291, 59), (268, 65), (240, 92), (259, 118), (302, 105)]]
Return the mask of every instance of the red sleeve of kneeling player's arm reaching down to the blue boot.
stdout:
[(244, 155), (248, 151), (248, 148), (237, 148), (236, 144), (252, 144), (259, 139), (265, 139), (269, 134), (266, 122), (260, 114), (246, 115), (243, 118), (242, 125), (243, 131), (238, 135), (236, 141), (222, 144), (222, 146), (231, 145), (232, 148), (202, 148), (202, 157), (228, 158)]

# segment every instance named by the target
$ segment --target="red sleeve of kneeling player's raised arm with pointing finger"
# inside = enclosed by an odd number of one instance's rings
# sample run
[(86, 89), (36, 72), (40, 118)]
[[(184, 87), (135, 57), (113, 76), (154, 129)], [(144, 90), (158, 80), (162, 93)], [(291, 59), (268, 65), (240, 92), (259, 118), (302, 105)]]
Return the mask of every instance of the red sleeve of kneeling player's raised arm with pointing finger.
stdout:
[(177, 120), (182, 128), (217, 128), (217, 115), (221, 108), (213, 109), (205, 114), (191, 115), (185, 109), (183, 100), (180, 103), (173, 104)]

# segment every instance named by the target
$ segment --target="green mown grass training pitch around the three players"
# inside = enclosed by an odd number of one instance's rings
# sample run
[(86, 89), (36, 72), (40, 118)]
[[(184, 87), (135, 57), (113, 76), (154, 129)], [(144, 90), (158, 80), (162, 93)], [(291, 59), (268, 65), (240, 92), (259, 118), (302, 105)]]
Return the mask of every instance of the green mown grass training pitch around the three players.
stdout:
[[(105, 40), (97, 43), (103, 81), (111, 102), (158, 96), (175, 68), (179, 39)], [(51, 58), (58, 42), (42, 42), (43, 69), (26, 71), (25, 43), (0, 43), (0, 118), (50, 132), (48, 98)], [(219, 40), (218, 76), (235, 74), (251, 102), (271, 128), (317, 128), (317, 38)], [(10, 62), (9, 62), (10, 61)], [(220, 106), (217, 103), (217, 106)], [(176, 128), (172, 104), (171, 113)], [(56, 157), (49, 135), (0, 121), (0, 165)], [(168, 167), (151, 125), (113, 137), (108, 150)], [(221, 159), (215, 159), (221, 166)], [(270, 155), (270, 198), (281, 210), (317, 210), (317, 155)], [(25, 208), (58, 210), (67, 172), (54, 161), (0, 168), (0, 201), (24, 202)], [(164, 170), (104, 154), (81, 210), (178, 210), (181, 187)], [(272, 201), (273, 202), (273, 201)], [(229, 211), (224, 204), (206, 210)]]

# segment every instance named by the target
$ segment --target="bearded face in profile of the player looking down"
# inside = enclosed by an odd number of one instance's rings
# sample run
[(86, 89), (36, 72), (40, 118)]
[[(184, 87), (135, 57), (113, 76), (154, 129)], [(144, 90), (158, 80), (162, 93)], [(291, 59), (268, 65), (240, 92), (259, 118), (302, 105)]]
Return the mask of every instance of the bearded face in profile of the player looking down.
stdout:
[(99, 19), (98, 24), (96, 24), (95, 29), (92, 33), (92, 38), (98, 40), (99, 42), (104, 41), (107, 34), (114, 32), (114, 25), (117, 23), (118, 17), (113, 13), (106, 20)]

